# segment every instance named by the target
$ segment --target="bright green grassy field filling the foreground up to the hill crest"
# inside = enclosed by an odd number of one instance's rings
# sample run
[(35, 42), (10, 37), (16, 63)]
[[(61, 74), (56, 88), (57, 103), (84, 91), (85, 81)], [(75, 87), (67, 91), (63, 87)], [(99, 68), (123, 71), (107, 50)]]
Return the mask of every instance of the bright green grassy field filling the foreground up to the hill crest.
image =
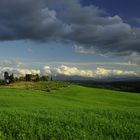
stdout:
[(140, 139), (140, 94), (52, 85), (1, 87), (0, 140)]

